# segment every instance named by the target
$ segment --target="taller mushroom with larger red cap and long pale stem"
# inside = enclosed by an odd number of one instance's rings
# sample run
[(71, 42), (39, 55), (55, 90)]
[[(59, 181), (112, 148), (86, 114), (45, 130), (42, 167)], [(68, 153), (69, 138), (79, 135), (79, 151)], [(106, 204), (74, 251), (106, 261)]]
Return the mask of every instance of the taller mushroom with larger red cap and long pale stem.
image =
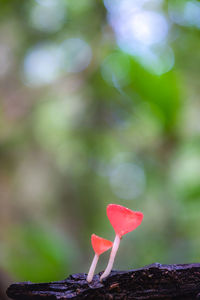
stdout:
[(107, 216), (115, 230), (116, 236), (113, 242), (108, 265), (104, 273), (101, 275), (100, 281), (106, 278), (112, 270), (122, 236), (136, 229), (141, 224), (143, 219), (143, 214), (141, 212), (133, 211), (117, 204), (109, 204), (107, 206)]

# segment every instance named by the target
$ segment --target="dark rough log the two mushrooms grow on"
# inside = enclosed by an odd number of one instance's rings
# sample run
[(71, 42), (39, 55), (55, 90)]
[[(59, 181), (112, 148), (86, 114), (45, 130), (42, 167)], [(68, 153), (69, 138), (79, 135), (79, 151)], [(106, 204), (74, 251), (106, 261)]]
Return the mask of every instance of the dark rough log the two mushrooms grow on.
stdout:
[(7, 289), (7, 295), (14, 300), (200, 299), (200, 264), (155, 263), (141, 269), (112, 271), (103, 283), (99, 282), (100, 274), (91, 284), (82, 273), (57, 282), (15, 283)]

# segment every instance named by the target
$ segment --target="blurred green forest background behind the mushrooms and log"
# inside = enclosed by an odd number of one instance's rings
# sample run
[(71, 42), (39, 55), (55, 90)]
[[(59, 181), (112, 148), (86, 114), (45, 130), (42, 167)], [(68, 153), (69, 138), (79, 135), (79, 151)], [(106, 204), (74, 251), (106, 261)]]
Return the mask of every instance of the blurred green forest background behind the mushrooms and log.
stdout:
[(0, 5), (0, 268), (87, 272), (109, 203), (144, 213), (115, 269), (200, 261), (200, 2)]

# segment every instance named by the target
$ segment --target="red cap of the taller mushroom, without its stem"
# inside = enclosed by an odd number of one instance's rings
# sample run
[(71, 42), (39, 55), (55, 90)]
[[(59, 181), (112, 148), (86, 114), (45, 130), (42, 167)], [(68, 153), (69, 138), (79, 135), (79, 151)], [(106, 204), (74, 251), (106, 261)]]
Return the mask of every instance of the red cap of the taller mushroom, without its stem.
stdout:
[(120, 237), (137, 228), (143, 219), (143, 213), (117, 204), (107, 206), (107, 216), (115, 233)]

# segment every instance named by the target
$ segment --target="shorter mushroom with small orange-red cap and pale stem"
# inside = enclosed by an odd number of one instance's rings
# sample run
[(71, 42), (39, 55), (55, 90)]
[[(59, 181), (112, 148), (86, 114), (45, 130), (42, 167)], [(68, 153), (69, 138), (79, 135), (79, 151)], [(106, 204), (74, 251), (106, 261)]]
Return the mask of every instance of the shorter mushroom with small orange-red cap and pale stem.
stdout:
[(90, 270), (87, 276), (87, 282), (91, 282), (94, 276), (94, 271), (96, 269), (97, 262), (99, 260), (99, 255), (110, 249), (113, 245), (111, 241), (105, 240), (96, 234), (92, 234), (91, 236), (92, 247), (95, 252), (95, 256), (93, 258), (92, 264), (90, 266)]

